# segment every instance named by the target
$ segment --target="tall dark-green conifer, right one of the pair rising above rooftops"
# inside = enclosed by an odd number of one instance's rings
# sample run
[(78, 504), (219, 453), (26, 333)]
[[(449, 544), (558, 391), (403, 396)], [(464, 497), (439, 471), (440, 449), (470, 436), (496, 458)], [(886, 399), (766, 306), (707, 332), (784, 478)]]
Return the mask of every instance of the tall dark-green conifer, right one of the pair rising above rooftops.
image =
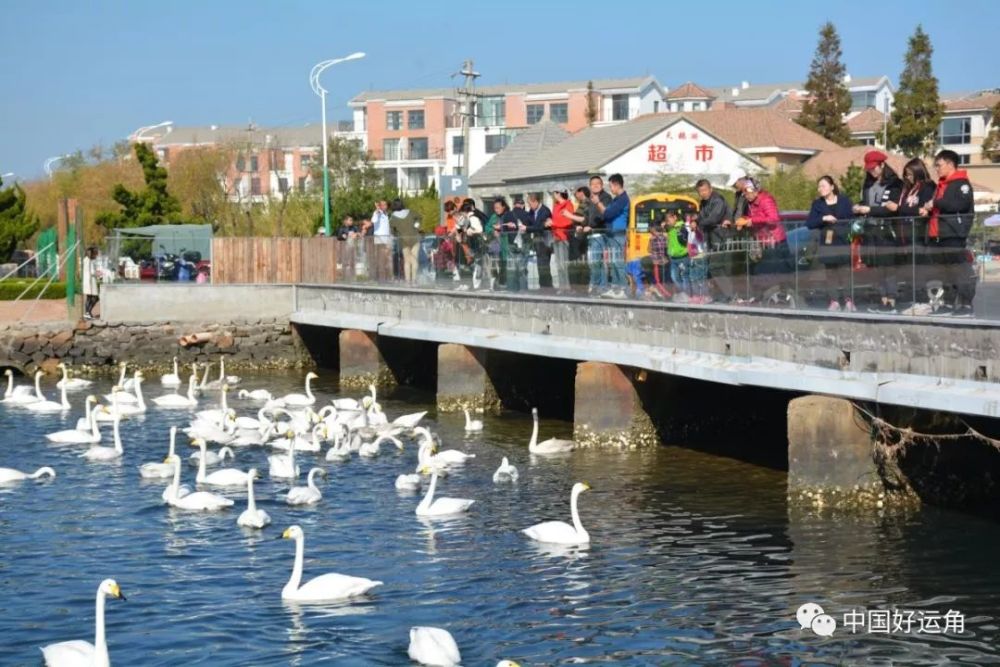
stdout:
[(889, 144), (906, 155), (927, 155), (937, 143), (944, 105), (931, 68), (933, 53), (930, 37), (918, 25), (906, 50), (889, 124)]

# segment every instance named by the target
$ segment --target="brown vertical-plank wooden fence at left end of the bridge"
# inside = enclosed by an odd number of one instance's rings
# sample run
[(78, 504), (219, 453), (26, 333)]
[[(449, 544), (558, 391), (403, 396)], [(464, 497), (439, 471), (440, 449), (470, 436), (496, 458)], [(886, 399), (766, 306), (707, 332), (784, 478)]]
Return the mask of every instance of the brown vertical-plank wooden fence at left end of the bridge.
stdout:
[(212, 282), (217, 285), (381, 282), (392, 275), (391, 247), (371, 237), (212, 239)]

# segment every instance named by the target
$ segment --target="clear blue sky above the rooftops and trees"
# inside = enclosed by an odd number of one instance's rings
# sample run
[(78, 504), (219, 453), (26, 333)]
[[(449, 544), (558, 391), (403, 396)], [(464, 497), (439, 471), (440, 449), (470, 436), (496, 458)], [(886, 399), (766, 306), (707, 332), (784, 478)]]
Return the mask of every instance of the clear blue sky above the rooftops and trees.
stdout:
[(653, 74), (731, 85), (804, 80), (817, 29), (832, 20), (854, 76), (895, 81), (919, 22), (943, 91), (1000, 86), (988, 43), (1000, 2), (39, 2), (0, 13), (0, 173), (111, 145), (142, 125), (319, 122), (319, 60), (331, 118), (367, 88), (447, 87), (465, 58), (481, 84)]

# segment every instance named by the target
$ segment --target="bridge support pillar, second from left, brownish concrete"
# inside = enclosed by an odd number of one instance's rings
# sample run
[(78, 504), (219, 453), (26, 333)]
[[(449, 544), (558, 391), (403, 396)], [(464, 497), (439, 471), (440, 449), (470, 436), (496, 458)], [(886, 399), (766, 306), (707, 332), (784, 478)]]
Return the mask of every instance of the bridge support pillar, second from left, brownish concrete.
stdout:
[(482, 348), (444, 343), (438, 346), (437, 409), (439, 412), (500, 412), (500, 397), (486, 370)]

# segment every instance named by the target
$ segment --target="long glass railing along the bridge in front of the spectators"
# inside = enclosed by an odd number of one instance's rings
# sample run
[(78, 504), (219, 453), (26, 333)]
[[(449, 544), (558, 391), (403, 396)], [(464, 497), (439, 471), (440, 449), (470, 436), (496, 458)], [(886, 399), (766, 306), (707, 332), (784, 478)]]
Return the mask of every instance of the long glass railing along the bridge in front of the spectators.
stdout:
[(664, 243), (657, 260), (648, 252), (636, 258), (636, 239), (626, 248), (624, 235), (316, 239), (335, 246), (328, 253), (335, 266), (315, 277), (304, 270), (302, 282), (1000, 320), (1000, 227), (984, 225), (986, 217), (974, 217), (965, 239), (929, 238), (926, 220), (911, 218), (718, 229), (702, 252), (670, 257)]

